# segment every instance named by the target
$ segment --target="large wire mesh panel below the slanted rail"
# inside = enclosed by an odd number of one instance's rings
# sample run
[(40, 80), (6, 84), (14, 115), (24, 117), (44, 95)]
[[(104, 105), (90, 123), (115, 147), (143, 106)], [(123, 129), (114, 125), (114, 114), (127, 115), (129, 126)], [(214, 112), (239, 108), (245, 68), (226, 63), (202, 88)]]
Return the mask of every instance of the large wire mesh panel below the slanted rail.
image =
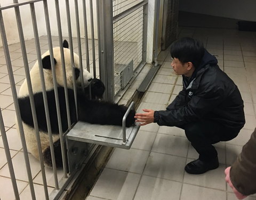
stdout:
[(114, 23), (115, 94), (122, 88), (122, 71), (133, 61), (135, 70), (142, 61), (143, 7)]

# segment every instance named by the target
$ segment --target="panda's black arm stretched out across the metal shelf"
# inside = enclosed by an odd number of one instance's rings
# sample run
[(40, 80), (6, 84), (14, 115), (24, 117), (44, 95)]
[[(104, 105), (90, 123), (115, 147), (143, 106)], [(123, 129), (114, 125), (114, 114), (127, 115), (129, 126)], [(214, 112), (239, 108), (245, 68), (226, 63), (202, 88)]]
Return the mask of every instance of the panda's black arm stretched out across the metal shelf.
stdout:
[[(77, 97), (80, 121), (91, 124), (122, 126), (122, 119), (127, 107), (116, 103), (89, 100), (81, 93), (77, 93)], [(135, 111), (132, 110), (126, 118), (126, 126), (131, 126), (134, 123), (134, 115)]]

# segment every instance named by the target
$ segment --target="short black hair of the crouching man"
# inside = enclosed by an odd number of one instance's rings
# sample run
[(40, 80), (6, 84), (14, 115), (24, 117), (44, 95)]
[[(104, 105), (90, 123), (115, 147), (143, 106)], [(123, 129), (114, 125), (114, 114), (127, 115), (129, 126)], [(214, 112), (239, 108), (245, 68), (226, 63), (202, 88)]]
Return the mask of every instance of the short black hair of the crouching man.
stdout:
[(172, 58), (178, 58), (182, 64), (192, 62), (195, 68), (200, 65), (204, 51), (203, 43), (191, 37), (183, 37), (171, 45)]

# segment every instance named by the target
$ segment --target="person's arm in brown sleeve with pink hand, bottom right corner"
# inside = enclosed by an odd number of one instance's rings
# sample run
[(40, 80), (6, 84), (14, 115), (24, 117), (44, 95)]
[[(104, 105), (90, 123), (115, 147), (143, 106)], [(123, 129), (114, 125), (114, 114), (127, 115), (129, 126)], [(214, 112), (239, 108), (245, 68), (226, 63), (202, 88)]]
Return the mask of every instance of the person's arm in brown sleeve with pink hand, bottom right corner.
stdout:
[(235, 163), (225, 170), (226, 182), (238, 199), (256, 193), (256, 129)]

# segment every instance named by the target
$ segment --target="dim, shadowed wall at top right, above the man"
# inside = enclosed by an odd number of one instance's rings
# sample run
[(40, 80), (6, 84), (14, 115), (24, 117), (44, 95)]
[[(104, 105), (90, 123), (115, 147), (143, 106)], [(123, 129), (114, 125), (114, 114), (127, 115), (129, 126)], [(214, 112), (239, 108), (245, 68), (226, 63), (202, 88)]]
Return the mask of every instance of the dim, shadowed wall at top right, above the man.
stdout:
[(180, 11), (256, 21), (255, 0), (180, 0)]

